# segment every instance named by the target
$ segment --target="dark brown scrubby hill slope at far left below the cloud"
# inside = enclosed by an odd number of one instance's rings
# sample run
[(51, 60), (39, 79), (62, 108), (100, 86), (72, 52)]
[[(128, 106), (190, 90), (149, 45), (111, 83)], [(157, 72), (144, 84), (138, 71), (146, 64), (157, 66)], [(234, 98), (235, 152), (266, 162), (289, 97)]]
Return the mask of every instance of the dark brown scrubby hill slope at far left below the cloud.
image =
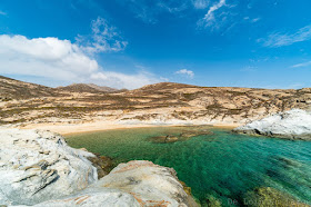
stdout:
[(0, 76), (0, 99), (2, 100), (50, 97), (57, 95), (53, 88)]

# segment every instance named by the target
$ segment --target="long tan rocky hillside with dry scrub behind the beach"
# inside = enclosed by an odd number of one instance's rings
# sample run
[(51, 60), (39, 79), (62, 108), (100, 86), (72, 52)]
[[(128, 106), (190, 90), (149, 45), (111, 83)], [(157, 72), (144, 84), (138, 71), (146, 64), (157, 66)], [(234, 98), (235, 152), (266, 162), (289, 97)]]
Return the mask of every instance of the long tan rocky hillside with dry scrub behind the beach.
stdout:
[(52, 93), (48, 87), (18, 83), (1, 92), (10, 95), (12, 90), (29, 90), (37, 86), (33, 91), (38, 98), (0, 101), (1, 124), (109, 120), (118, 124), (242, 125), (292, 108), (311, 109), (311, 88), (197, 87), (161, 82), (129, 91), (99, 92), (89, 85), (74, 85), (70, 87), (72, 91), (58, 89), (54, 97), (46, 97), (50, 95), (48, 91)]

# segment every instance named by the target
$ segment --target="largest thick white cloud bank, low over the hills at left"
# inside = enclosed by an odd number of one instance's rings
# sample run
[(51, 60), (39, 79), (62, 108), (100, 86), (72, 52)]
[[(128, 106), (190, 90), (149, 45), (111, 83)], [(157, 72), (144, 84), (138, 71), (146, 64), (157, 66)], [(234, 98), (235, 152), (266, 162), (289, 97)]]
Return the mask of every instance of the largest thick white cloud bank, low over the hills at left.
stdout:
[(104, 71), (77, 43), (58, 38), (0, 36), (0, 73), (34, 76), (72, 82), (93, 82), (116, 88), (138, 88), (161, 81), (147, 72), (124, 75)]

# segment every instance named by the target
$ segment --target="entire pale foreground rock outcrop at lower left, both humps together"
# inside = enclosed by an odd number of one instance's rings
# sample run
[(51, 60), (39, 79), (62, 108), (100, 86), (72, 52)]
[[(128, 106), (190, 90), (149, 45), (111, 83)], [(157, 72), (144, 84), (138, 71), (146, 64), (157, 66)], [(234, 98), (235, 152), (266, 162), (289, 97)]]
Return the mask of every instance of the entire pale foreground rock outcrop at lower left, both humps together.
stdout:
[(0, 206), (197, 206), (171, 168), (134, 160), (98, 180), (90, 157), (50, 131), (1, 129)]

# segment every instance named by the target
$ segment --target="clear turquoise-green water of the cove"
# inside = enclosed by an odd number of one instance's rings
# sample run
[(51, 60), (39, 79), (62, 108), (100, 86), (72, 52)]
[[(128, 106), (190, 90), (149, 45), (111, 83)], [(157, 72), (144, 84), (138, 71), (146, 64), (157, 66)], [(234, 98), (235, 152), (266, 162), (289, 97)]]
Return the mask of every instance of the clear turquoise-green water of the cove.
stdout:
[(87, 148), (118, 162), (151, 160), (172, 167), (202, 203), (210, 196), (230, 206), (257, 187), (273, 187), (301, 201), (311, 200), (311, 142), (234, 135), (210, 128), (213, 135), (173, 144), (150, 137), (178, 135), (185, 127), (108, 130), (69, 136), (76, 148)]

